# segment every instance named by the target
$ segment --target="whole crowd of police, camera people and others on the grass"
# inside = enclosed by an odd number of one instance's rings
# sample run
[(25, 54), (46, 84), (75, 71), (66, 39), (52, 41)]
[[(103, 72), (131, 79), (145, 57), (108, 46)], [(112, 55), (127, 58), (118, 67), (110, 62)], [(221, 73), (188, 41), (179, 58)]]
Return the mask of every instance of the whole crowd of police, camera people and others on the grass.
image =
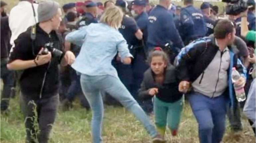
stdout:
[(27, 143), (47, 143), (59, 102), (69, 110), (76, 96), (92, 111), (93, 143), (103, 142), (104, 102), (131, 111), (154, 143), (166, 142), (166, 126), (178, 134), (184, 99), (200, 143), (221, 142), (226, 115), (239, 133), (241, 109), (255, 134), (255, 1), (223, 16), (208, 2), (183, 2), (20, 0), (8, 14), (1, 0), (1, 112), (19, 83)]

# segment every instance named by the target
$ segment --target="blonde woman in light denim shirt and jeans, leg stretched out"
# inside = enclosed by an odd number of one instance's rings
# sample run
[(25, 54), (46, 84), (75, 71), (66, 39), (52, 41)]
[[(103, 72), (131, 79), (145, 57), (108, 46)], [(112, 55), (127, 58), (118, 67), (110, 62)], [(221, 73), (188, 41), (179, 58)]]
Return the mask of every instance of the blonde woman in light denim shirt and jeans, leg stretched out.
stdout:
[(130, 64), (133, 56), (122, 34), (118, 32), (123, 13), (116, 6), (109, 7), (100, 23), (91, 23), (66, 36), (66, 40), (82, 46), (72, 64), (81, 73), (81, 86), (92, 109), (92, 138), (94, 143), (102, 143), (101, 126), (103, 120), (103, 101), (100, 92), (107, 92), (130, 110), (153, 137), (154, 143), (165, 142), (157, 133), (145, 112), (122, 84), (111, 60), (119, 53), (124, 64)]

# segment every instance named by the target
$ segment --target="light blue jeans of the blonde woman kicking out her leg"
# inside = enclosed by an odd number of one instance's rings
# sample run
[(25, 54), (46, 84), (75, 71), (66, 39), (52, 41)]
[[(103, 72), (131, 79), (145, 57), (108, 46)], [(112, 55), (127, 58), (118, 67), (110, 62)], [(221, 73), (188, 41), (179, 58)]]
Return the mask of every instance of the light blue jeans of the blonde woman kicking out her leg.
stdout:
[(102, 143), (101, 127), (103, 120), (103, 101), (100, 92), (107, 92), (117, 99), (125, 108), (131, 111), (137, 119), (144, 125), (152, 137), (157, 135), (154, 125), (150, 122), (148, 116), (141, 109), (130, 92), (125, 88), (119, 78), (104, 76), (81, 75), (81, 86), (91, 110), (92, 110), (92, 138), (93, 143)]

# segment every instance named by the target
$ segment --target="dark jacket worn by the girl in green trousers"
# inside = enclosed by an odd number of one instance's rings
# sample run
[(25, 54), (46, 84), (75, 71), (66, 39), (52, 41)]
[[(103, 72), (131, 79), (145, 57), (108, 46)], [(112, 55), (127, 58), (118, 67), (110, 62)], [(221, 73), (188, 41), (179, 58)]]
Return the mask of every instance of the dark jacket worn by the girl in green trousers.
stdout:
[(151, 99), (149, 89), (158, 88), (156, 97), (164, 102), (175, 102), (181, 99), (182, 93), (179, 92), (179, 82), (177, 79), (176, 69), (173, 65), (169, 65), (165, 71), (165, 79), (163, 85), (156, 84), (154, 80), (154, 73), (149, 68), (144, 73), (144, 78), (139, 89), (139, 98), (144, 100)]

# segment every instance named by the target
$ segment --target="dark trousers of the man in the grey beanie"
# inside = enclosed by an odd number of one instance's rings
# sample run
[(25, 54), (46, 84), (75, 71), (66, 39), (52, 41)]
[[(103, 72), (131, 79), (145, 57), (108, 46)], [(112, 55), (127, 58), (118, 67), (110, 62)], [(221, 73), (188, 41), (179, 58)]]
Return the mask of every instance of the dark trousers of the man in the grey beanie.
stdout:
[(49, 98), (37, 100), (22, 93), (20, 95), (21, 107), (25, 116), (26, 143), (35, 143), (37, 141), (39, 143), (48, 143), (57, 114), (59, 95), (55, 94)]

